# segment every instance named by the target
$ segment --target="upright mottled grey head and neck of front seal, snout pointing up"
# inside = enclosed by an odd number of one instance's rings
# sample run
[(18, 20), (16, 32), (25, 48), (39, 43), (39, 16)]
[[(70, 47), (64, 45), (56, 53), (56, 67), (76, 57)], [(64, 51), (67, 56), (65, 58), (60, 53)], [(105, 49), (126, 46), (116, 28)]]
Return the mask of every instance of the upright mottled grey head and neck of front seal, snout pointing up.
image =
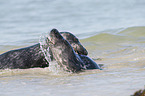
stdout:
[(58, 30), (51, 30), (48, 43), (53, 57), (65, 71), (79, 72), (83, 69), (83, 61)]

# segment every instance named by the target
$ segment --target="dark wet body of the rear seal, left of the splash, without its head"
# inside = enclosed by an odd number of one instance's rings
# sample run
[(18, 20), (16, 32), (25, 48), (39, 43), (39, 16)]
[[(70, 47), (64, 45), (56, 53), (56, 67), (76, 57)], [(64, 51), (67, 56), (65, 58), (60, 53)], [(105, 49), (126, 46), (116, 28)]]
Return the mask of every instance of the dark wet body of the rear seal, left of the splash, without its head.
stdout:
[(48, 67), (48, 62), (40, 50), (39, 43), (30, 47), (11, 50), (0, 55), (0, 69), (33, 67)]

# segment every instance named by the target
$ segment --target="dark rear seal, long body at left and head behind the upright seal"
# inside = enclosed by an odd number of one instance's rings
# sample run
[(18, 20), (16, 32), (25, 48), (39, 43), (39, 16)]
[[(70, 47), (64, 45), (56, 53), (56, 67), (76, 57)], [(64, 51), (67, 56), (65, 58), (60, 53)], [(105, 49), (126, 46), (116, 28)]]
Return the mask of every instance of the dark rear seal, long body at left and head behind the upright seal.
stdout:
[[(69, 32), (60, 33), (70, 42), (75, 52), (82, 55), (88, 54), (87, 50), (82, 46), (77, 37)], [(45, 47), (46, 49), (48, 48), (48, 46)], [(52, 56), (51, 59), (53, 59)], [(11, 50), (0, 55), (0, 69), (44, 68), (48, 66), (49, 62), (45, 59), (45, 56), (40, 49), (40, 43), (25, 48)]]

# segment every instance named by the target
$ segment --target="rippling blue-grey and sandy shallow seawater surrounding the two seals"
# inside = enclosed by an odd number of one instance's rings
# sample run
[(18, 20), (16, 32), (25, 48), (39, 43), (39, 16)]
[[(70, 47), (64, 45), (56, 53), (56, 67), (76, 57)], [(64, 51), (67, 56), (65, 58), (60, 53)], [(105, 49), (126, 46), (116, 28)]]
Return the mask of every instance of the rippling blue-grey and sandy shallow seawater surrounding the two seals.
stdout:
[(89, 57), (104, 64), (103, 70), (79, 74), (60, 72), (55, 66), (0, 70), (0, 96), (130, 96), (143, 89), (144, 4), (144, 0), (0, 0), (0, 53), (36, 44), (43, 33), (57, 28), (75, 34)]

